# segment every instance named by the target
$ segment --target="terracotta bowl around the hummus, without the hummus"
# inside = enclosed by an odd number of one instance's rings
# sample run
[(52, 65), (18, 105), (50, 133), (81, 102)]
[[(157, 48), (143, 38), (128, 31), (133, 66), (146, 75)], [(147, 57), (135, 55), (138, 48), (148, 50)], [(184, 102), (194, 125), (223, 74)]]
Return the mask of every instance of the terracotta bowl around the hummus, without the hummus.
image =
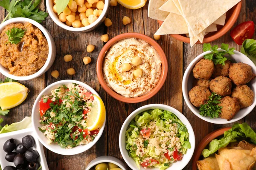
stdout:
[[(104, 59), (105, 59), (105, 54), (107, 54), (108, 50), (116, 42), (118, 42), (120, 40), (127, 39), (127, 38), (137, 38), (137, 39), (144, 40), (145, 42), (148, 42), (150, 45), (152, 45), (156, 49), (157, 53), (160, 55), (160, 58), (162, 60), (162, 73), (161, 73), (161, 76), (160, 76), (160, 79), (159, 79), (157, 85), (148, 94), (145, 94), (145, 95), (139, 96), (139, 97), (128, 98), (128, 97), (124, 97), (124, 96), (116, 93), (107, 85), (107, 83), (105, 82), (105, 78), (104, 78), (103, 63), (104, 63)], [(162, 48), (153, 39), (151, 39), (150, 37), (143, 35), (143, 34), (125, 33), (125, 34), (120, 34), (120, 35), (112, 38), (104, 45), (104, 47), (102, 48), (102, 50), (99, 53), (96, 67), (97, 67), (96, 69), (97, 69), (97, 76), (99, 79), (99, 83), (102, 85), (102, 88), (104, 88), (104, 90), (110, 96), (112, 96), (113, 98), (115, 98), (119, 101), (122, 101), (122, 102), (138, 103), (138, 102), (143, 102), (143, 101), (151, 98), (152, 96), (157, 94), (157, 92), (162, 88), (162, 86), (166, 80), (166, 76), (167, 76), (168, 63), (167, 63), (166, 55), (164, 54)]]

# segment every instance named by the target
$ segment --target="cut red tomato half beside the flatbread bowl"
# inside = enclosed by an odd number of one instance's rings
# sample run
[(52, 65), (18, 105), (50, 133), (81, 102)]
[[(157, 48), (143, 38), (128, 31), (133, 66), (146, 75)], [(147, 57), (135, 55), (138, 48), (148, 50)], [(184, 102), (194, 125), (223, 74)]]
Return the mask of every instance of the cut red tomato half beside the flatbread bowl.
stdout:
[(245, 39), (251, 39), (254, 34), (254, 23), (253, 21), (246, 21), (234, 28), (230, 36), (238, 45), (242, 45)]

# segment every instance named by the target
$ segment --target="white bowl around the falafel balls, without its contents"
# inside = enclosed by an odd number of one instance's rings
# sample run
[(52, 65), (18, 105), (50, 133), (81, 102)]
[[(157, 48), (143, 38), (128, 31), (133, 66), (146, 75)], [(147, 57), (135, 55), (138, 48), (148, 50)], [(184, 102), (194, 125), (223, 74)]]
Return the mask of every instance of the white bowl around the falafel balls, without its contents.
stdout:
[[(223, 51), (221, 48), (218, 48), (218, 51)], [(249, 110), (247, 111), (246, 114), (238, 117), (238, 118), (233, 118), (231, 119), (230, 121), (218, 121), (216, 119), (210, 119), (209, 117), (204, 117), (204, 116), (201, 116), (200, 114), (198, 113), (195, 113), (195, 106), (192, 105), (192, 103), (190, 102), (189, 100), (189, 95), (188, 93), (186, 93), (187, 90), (187, 81), (188, 81), (188, 77), (190, 75), (191, 72), (189, 72), (189, 69), (191, 69), (192, 67), (194, 67), (194, 65), (202, 58), (204, 58), (204, 55), (205, 54), (209, 54), (211, 53), (211, 51), (206, 51), (202, 54), (199, 54), (197, 57), (195, 57), (195, 59), (192, 60), (192, 62), (189, 63), (188, 67), (186, 68), (186, 71), (183, 75), (183, 80), (182, 80), (182, 94), (183, 94), (183, 97), (184, 97), (184, 100), (186, 102), (186, 104), (188, 105), (189, 109), (196, 115), (198, 116), (200, 119), (203, 119), (204, 121), (206, 122), (210, 122), (210, 123), (214, 123), (214, 124), (228, 124), (228, 123), (233, 123), (233, 122), (236, 122), (236, 121), (239, 121), (241, 119), (243, 119), (245, 116), (247, 116), (252, 110), (253, 108), (256, 106), (256, 99), (254, 99), (254, 102), (251, 106), (249, 106), (250, 108), (248, 108)], [(242, 57), (247, 57), (246, 55), (242, 54), (241, 52), (239, 51), (236, 51), (234, 50), (234, 53), (235, 54), (238, 54), (238, 55), (241, 55)], [(247, 57), (248, 58), (248, 57)], [(249, 59), (249, 58), (248, 58)], [(250, 59), (249, 59), (250, 60)], [(250, 66), (252, 67), (252, 70), (253, 71), (256, 71), (256, 65), (254, 65), (254, 63), (250, 60)], [(255, 96), (254, 96), (255, 98)], [(198, 111), (198, 110), (197, 110)], [(241, 110), (240, 110), (241, 111)], [(221, 118), (218, 118), (218, 119), (221, 119)]]

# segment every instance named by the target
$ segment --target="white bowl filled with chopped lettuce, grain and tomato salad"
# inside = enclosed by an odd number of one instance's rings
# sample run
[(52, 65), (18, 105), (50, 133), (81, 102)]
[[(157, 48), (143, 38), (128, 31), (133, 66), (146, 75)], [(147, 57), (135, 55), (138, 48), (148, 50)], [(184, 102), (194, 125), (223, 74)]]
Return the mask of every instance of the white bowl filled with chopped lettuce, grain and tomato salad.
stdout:
[(195, 150), (195, 134), (186, 117), (167, 105), (152, 104), (128, 116), (119, 148), (133, 170), (183, 169)]

